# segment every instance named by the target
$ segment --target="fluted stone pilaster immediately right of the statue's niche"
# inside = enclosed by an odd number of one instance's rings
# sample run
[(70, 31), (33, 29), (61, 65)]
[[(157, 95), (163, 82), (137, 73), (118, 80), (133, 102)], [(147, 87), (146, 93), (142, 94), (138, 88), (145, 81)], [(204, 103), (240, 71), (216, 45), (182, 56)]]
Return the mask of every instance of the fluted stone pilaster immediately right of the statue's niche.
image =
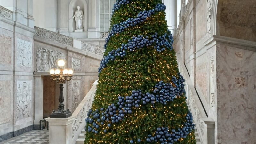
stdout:
[[(98, 38), (97, 30), (96, 30), (96, 1), (97, 0), (89, 0), (88, 6), (88, 38)], [(98, 4), (98, 3), (97, 3)]]

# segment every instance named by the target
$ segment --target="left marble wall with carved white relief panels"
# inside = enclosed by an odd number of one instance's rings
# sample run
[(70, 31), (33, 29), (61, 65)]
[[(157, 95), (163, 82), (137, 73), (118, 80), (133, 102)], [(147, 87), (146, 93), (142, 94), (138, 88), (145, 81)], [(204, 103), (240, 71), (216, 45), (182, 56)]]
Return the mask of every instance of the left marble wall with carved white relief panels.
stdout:
[[(26, 16), (31, 14), (30, 10), (27, 7)], [(15, 23), (2, 17), (0, 20), (0, 108), (4, 109), (0, 118), (0, 141), (33, 129), (34, 31), (30, 28), (31, 19), (26, 19), (23, 25), (19, 12)]]

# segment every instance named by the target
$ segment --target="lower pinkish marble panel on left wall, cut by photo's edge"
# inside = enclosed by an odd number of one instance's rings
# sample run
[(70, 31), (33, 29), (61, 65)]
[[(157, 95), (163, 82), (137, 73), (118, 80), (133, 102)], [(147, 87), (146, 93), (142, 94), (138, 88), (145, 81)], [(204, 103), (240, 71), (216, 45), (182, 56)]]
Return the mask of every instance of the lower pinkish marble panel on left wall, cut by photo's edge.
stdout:
[(0, 124), (10, 122), (12, 118), (11, 87), (11, 81), (0, 80)]

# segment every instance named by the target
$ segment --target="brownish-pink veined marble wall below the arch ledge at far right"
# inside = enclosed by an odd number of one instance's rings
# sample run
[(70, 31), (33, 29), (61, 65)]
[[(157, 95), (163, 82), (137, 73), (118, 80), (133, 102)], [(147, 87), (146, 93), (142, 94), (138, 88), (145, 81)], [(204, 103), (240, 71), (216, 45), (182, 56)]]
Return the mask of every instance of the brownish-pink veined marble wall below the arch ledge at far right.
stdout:
[(256, 52), (217, 45), (218, 143), (256, 141)]

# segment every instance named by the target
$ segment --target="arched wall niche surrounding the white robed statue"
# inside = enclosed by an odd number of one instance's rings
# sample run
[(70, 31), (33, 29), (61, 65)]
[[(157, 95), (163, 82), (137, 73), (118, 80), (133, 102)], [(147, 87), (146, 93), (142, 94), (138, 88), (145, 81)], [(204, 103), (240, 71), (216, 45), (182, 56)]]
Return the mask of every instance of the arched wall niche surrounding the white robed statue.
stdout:
[[(85, 0), (72, 0), (69, 3), (69, 19), (71, 19), (74, 16), (75, 11), (77, 10), (77, 6), (80, 6), (80, 9), (84, 13), (84, 31), (87, 31), (88, 7), (87, 7), (87, 2)], [(74, 18), (73, 20), (69, 20), (69, 31), (73, 32), (75, 28), (76, 28), (76, 22)]]

